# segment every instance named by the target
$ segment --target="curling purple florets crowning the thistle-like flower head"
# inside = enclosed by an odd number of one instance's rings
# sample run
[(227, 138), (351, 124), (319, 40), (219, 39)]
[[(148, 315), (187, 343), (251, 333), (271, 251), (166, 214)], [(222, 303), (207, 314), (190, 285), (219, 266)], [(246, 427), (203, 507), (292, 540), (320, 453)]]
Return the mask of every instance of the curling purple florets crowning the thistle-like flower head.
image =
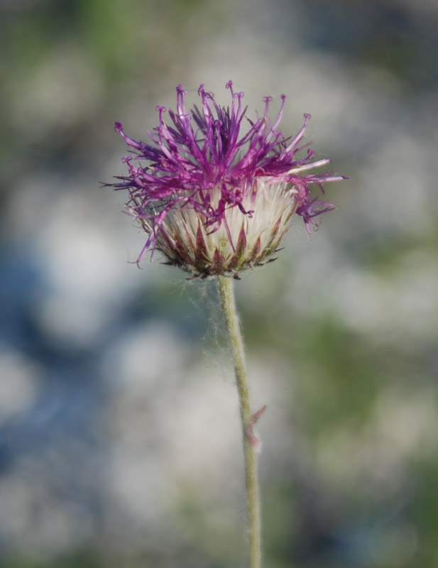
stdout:
[[(287, 183), (297, 190), (295, 212), (304, 220), (308, 232), (315, 225), (314, 217), (334, 209), (333, 204), (310, 197), (311, 185), (322, 189), (324, 182), (344, 179), (328, 173), (305, 175), (306, 170), (331, 161), (325, 158), (315, 162), (316, 153), (309, 145), (300, 146), (310, 114), (304, 115), (297, 135), (286, 138), (278, 130), (285, 108), (284, 94), (273, 121), (268, 117), (272, 97), (263, 98), (263, 116), (251, 121), (246, 116), (247, 107), (242, 105), (243, 92), (234, 92), (231, 81), (226, 88), (231, 92), (231, 107), (220, 107), (202, 84), (198, 90), (200, 107), (187, 111), (186, 92), (178, 85), (176, 111), (168, 111), (169, 124), (163, 118), (165, 107), (156, 107), (159, 124), (148, 133), (151, 143), (129, 138), (122, 124), (116, 123), (116, 131), (132, 151), (123, 158), (128, 175), (117, 177), (120, 182), (112, 185), (116, 190), (128, 190), (130, 199), (126, 205), (130, 213), (150, 227), (141, 256), (155, 247), (163, 221), (175, 207), (194, 209), (209, 232), (226, 223), (225, 212), (230, 207), (239, 207), (243, 215), (251, 217), (252, 211), (242, 203), (257, 178)], [(305, 151), (305, 155), (298, 158), (300, 151)]]

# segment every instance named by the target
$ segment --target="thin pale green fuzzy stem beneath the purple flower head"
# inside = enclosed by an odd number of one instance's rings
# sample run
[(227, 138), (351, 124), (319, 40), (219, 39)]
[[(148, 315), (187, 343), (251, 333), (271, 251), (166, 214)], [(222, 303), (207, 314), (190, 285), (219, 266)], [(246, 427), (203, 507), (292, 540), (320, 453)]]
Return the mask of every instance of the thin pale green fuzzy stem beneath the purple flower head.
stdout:
[(233, 356), (237, 390), (239, 393), (243, 452), (245, 454), (246, 498), (248, 505), (249, 567), (261, 568), (260, 497), (258, 492), (255, 444), (252, 434), (252, 425), (255, 420), (251, 420), (251, 406), (249, 403), (248, 383), (246, 381), (245, 354), (239, 327), (239, 316), (237, 315), (236, 301), (234, 299), (233, 280), (219, 276), (218, 283), (229, 344)]

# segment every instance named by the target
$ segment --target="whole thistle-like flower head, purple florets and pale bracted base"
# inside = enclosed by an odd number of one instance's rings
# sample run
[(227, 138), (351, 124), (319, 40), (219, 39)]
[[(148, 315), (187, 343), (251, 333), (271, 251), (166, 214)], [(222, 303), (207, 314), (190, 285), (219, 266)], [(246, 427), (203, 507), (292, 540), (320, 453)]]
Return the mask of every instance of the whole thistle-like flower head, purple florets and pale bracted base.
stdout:
[(111, 185), (128, 190), (128, 213), (148, 234), (137, 263), (146, 251), (158, 249), (166, 263), (193, 277), (239, 278), (241, 271), (273, 260), (293, 214), (310, 234), (317, 228), (314, 218), (334, 209), (311, 195), (315, 186), (324, 192), (325, 182), (344, 176), (309, 173), (331, 161), (315, 160), (310, 145), (301, 143), (310, 114), (296, 136), (285, 137), (278, 129), (285, 95), (273, 121), (272, 97), (263, 98), (263, 116), (250, 119), (243, 92), (234, 92), (231, 81), (226, 88), (231, 107), (220, 107), (201, 85), (200, 107), (187, 111), (186, 92), (178, 85), (168, 124), (165, 107), (156, 107), (159, 124), (148, 133), (152, 143), (128, 138), (116, 123), (132, 150), (123, 158), (128, 175)]

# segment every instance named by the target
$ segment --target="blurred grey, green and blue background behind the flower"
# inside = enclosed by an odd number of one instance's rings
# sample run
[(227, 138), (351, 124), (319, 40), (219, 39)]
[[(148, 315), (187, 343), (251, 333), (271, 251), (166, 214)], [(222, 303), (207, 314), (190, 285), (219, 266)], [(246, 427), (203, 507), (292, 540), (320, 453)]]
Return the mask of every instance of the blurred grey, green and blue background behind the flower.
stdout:
[[(102, 188), (124, 123), (229, 79), (349, 182), (236, 283), (268, 568), (438, 565), (435, 0), (0, 0), (0, 567), (240, 568), (214, 281)], [(276, 99), (278, 101), (278, 98)], [(250, 111), (251, 114), (251, 111)]]

